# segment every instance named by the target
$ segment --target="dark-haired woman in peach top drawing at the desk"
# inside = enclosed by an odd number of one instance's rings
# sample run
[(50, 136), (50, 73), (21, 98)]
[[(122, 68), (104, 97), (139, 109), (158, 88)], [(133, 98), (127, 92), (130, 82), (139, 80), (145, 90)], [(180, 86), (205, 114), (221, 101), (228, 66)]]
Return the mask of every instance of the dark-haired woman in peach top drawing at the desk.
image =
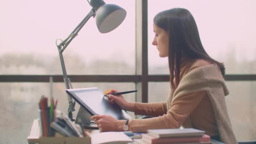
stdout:
[(184, 8), (162, 11), (155, 16), (153, 29), (152, 44), (156, 45), (159, 56), (168, 57), (169, 61), (171, 91), (167, 101), (133, 103), (121, 95), (109, 95), (108, 99), (120, 108), (153, 118), (125, 121), (94, 115), (91, 119), (101, 131), (146, 133), (147, 129), (182, 126), (203, 130), (212, 139), (227, 144), (237, 143), (224, 99), (229, 93), (223, 79), (224, 65), (204, 50), (192, 14)]

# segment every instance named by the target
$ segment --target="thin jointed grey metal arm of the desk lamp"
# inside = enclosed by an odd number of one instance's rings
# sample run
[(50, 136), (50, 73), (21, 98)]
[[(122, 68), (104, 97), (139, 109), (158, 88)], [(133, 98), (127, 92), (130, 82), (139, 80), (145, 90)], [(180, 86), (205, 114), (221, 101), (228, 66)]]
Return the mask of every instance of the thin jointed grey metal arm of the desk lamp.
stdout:
[[(69, 45), (69, 43), (77, 36), (77, 33), (82, 29), (82, 27), (85, 25), (85, 23), (91, 18), (91, 16), (95, 16), (95, 10), (91, 9), (91, 11), (85, 16), (85, 18), (80, 22), (80, 24), (77, 25), (77, 27), (71, 32), (71, 34), (65, 39), (63, 40), (59, 45), (57, 45), (58, 51), (59, 51), (59, 57), (60, 57), (60, 61), (61, 61), (61, 69), (63, 72), (63, 77), (64, 77), (64, 83), (66, 86), (66, 89), (70, 89), (70, 86), (72, 88), (71, 85), (71, 81), (69, 80), (69, 78), (67, 77), (67, 71), (66, 71), (66, 67), (65, 67), (65, 63), (64, 63), (64, 59), (63, 59), (63, 51), (65, 50), (65, 48), (67, 48), (67, 46)], [(68, 101), (69, 101), (69, 108), (68, 108), (68, 116), (70, 120), (74, 120), (73, 116), (72, 116), (72, 112), (75, 111), (75, 101), (73, 103), (72, 98), (67, 95)]]

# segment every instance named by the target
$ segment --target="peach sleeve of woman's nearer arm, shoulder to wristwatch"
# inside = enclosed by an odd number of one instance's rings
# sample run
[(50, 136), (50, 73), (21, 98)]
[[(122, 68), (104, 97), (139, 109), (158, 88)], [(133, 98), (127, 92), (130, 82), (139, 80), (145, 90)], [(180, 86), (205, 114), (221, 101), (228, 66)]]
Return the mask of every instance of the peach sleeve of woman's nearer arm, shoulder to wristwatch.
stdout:
[(131, 120), (129, 130), (146, 133), (148, 129), (179, 128), (206, 95), (205, 91), (199, 91), (181, 96), (173, 101), (168, 112), (162, 116)]

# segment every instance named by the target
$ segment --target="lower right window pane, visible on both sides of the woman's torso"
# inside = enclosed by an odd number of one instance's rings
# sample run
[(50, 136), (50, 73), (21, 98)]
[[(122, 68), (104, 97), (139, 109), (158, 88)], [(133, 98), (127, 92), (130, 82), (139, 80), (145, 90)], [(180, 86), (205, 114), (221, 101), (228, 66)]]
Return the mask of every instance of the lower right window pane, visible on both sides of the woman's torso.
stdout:
[[(238, 141), (256, 139), (256, 82), (227, 82), (227, 109)], [(155, 91), (157, 90), (157, 91)], [(149, 102), (166, 101), (169, 83), (149, 83)]]

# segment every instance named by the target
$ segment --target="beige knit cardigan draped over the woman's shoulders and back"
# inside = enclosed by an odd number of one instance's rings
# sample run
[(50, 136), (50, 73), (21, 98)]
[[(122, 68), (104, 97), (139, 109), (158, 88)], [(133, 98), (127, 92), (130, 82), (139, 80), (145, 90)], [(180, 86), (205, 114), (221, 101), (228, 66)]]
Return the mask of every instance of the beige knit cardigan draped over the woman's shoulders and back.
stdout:
[[(198, 91), (206, 91), (211, 100), (221, 141), (226, 144), (237, 144), (224, 97), (229, 94), (229, 91), (216, 64), (210, 64), (188, 72), (181, 79), (176, 90), (170, 91), (166, 103), (167, 111), (175, 99)], [(182, 126), (192, 128), (189, 117)]]

